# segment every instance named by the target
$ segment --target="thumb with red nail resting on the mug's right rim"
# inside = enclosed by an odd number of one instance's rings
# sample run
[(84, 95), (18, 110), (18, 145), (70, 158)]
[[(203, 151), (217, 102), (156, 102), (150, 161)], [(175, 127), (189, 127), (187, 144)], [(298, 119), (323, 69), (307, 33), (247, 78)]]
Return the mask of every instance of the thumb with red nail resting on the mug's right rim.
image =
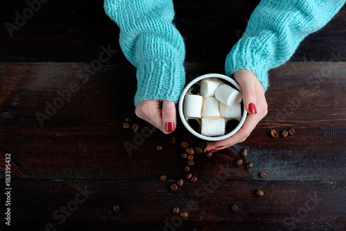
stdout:
[(235, 80), (237, 80), (242, 88), (245, 109), (250, 114), (257, 114), (255, 78), (257, 77), (251, 71), (242, 70), (235, 72)]

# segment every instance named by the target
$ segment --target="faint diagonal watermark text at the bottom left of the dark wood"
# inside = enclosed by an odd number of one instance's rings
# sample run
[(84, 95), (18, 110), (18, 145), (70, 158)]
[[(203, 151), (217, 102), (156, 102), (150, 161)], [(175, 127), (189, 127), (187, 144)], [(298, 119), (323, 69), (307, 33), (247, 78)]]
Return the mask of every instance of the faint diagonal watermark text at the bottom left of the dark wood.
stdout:
[(77, 211), (78, 205), (84, 203), (86, 199), (93, 194), (93, 191), (88, 191), (86, 186), (84, 186), (84, 189), (81, 189), (80, 187), (77, 187), (76, 189), (79, 192), (75, 194), (75, 198), (66, 203), (66, 206), (60, 206), (59, 209), (56, 209), (53, 212), (53, 219), (57, 220), (57, 223), (47, 223), (42, 231), (56, 231), (57, 228), (55, 228), (55, 225), (62, 225), (65, 223), (66, 216), (71, 216), (72, 212)]

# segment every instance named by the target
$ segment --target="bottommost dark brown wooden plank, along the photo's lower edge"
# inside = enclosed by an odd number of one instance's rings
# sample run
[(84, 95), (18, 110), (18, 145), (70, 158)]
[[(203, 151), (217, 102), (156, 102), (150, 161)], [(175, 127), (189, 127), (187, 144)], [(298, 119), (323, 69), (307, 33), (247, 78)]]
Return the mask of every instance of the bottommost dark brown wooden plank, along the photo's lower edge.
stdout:
[[(170, 183), (12, 180), (11, 228), (44, 230), (52, 223), (57, 230), (165, 230), (165, 221), (172, 223), (172, 219), (179, 226), (172, 226), (175, 230), (346, 228), (345, 182), (234, 182), (218, 181), (215, 176), (212, 181), (187, 182), (175, 192), (168, 189)], [(78, 188), (90, 191), (87, 198), (79, 195)], [(262, 189), (264, 196), (255, 196), (255, 189)], [(84, 201), (75, 203), (76, 195), (78, 201)], [(118, 212), (113, 211), (115, 204), (120, 207)], [(239, 207), (237, 212), (230, 209), (233, 204)], [(190, 217), (175, 217), (174, 206), (189, 209)], [(69, 216), (64, 216), (62, 207), (75, 211), (67, 210)], [(2, 230), (3, 222), (0, 227)]]

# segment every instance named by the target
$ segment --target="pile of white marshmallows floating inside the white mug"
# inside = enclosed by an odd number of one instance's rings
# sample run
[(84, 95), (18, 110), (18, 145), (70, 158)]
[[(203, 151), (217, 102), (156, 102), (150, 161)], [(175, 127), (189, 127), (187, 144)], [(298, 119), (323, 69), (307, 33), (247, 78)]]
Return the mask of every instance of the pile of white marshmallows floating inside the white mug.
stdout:
[(188, 92), (185, 95), (183, 114), (186, 121), (201, 121), (201, 135), (225, 135), (227, 121), (242, 118), (242, 93), (218, 78), (205, 78), (199, 85), (199, 94)]

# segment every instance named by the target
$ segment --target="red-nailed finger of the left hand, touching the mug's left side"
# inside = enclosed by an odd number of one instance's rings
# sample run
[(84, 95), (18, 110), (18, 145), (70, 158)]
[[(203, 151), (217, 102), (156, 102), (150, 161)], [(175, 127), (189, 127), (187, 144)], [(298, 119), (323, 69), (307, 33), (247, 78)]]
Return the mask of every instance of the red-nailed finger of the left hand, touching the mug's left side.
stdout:
[(173, 132), (176, 128), (176, 109), (173, 101), (163, 101), (162, 122), (165, 132)]

